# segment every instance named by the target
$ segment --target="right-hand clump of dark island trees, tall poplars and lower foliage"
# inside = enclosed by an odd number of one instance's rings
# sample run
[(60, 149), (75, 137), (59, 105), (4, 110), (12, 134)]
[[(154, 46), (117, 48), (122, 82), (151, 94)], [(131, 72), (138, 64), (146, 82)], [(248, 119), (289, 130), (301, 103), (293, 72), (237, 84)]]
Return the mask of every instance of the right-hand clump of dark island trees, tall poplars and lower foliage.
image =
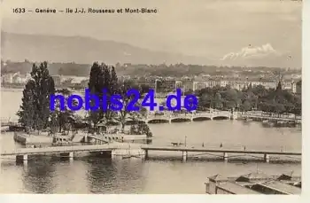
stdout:
[[(89, 120), (96, 126), (99, 122), (120, 122), (121, 131), (124, 131), (127, 121), (138, 121), (145, 116), (145, 109), (141, 107), (142, 94), (139, 96), (139, 100), (136, 102), (136, 106), (141, 109), (137, 112), (127, 111), (129, 103), (133, 98), (136, 98), (135, 94), (128, 95), (128, 90), (138, 90), (139, 92), (147, 92), (149, 87), (139, 86), (134, 81), (120, 82), (118, 80), (115, 68), (113, 66), (106, 66), (105, 64), (98, 65), (96, 62), (93, 64), (89, 75), (89, 90), (91, 94), (95, 94), (100, 98), (100, 109), (97, 111), (91, 111), (89, 113)], [(103, 90), (105, 90), (107, 107), (102, 108)], [(119, 95), (122, 108), (116, 113), (112, 111), (111, 98), (112, 96)], [(139, 127), (142, 128), (142, 127)], [(145, 128), (145, 127), (143, 127)], [(146, 130), (146, 129), (145, 129)], [(140, 130), (141, 131), (141, 130)]]

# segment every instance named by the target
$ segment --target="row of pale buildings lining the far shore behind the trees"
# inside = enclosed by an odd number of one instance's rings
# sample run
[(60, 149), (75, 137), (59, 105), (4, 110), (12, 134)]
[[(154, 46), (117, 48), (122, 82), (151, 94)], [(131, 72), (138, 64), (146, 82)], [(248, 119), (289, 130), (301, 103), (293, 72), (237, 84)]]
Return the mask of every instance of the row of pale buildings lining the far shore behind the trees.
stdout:
[[(4, 84), (26, 84), (31, 78), (30, 74), (4, 74), (1, 76), (1, 82)], [(52, 75), (56, 86), (64, 86), (68, 88), (82, 89), (86, 88), (89, 83), (88, 77), (77, 76), (64, 76), (64, 75)], [(183, 92), (190, 90), (201, 90), (205, 88), (213, 88), (215, 86), (226, 87), (230, 86), (232, 89), (243, 90), (244, 88), (252, 85), (262, 85), (266, 89), (275, 89), (278, 81), (270, 79), (228, 79), (225, 77), (220, 78), (194, 78), (184, 76), (182, 78), (174, 77), (130, 77), (129, 75), (120, 76), (121, 81), (134, 80), (139, 85), (145, 85), (156, 92), (171, 92), (176, 89), (182, 89)], [(301, 87), (298, 82), (295, 81), (283, 81), (282, 88), (284, 90), (291, 90), (292, 93), (300, 93)]]

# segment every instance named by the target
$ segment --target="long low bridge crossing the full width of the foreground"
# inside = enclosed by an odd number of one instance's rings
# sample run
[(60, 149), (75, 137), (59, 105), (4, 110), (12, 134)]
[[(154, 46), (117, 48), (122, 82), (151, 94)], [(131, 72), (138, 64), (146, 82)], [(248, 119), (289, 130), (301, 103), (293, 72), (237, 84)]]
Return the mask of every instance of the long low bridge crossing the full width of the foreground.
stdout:
[[(51, 155), (60, 154), (61, 157), (74, 159), (74, 152), (100, 152), (107, 154), (109, 158), (112, 158), (112, 154), (118, 154), (119, 156), (128, 156), (148, 159), (150, 151), (161, 152), (181, 152), (180, 158), (183, 161), (188, 160), (189, 152), (202, 152), (203, 154), (214, 155), (221, 158), (224, 161), (234, 159), (236, 157), (245, 155), (259, 155), (256, 158), (263, 159), (266, 162), (270, 161), (271, 155), (280, 156), (301, 156), (301, 152), (283, 152), (283, 151), (267, 151), (267, 150), (236, 150), (236, 149), (214, 149), (207, 147), (189, 147), (189, 146), (156, 146), (148, 144), (123, 144), (119, 142), (105, 143), (105, 138), (101, 137), (88, 137), (94, 139), (97, 144), (88, 145), (65, 145), (65, 146), (53, 146), (43, 148), (19, 148), (12, 151), (1, 152), (0, 156), (15, 156), (16, 160), (28, 160), (30, 155)], [(98, 144), (100, 143), (100, 144)], [(298, 159), (298, 158), (296, 158)]]

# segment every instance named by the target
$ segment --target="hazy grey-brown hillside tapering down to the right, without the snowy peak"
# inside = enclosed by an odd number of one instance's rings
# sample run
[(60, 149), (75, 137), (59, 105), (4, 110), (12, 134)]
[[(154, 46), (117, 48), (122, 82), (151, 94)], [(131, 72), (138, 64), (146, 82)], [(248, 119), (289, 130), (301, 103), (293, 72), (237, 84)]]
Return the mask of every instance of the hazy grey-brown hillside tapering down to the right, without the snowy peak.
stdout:
[(141, 49), (127, 43), (100, 41), (81, 36), (23, 35), (1, 33), (2, 59), (12, 61), (75, 62), (96, 60), (108, 64), (198, 63), (204, 59)]

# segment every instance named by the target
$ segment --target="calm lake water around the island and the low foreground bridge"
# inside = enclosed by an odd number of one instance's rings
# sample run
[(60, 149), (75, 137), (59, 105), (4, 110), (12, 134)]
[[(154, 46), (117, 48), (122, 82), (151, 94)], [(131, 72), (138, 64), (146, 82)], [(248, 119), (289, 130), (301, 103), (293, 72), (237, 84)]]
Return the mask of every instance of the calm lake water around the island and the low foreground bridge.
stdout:
[[(12, 117), (20, 105), (21, 91), (2, 91), (1, 117)], [(301, 129), (263, 128), (260, 122), (197, 121), (150, 124), (152, 144), (185, 142), (189, 146), (301, 151)], [(12, 133), (2, 133), (0, 146), (20, 147)], [(299, 161), (244, 161), (164, 159), (158, 152), (150, 160), (103, 160), (77, 157), (74, 161), (43, 157), (26, 166), (2, 160), (1, 193), (205, 193), (208, 176), (240, 176), (257, 170), (269, 175), (294, 171), (301, 175)], [(160, 158), (159, 158), (160, 157)], [(175, 158), (177, 158), (174, 155)], [(271, 157), (272, 159), (272, 157)], [(289, 158), (288, 158), (289, 159)]]

